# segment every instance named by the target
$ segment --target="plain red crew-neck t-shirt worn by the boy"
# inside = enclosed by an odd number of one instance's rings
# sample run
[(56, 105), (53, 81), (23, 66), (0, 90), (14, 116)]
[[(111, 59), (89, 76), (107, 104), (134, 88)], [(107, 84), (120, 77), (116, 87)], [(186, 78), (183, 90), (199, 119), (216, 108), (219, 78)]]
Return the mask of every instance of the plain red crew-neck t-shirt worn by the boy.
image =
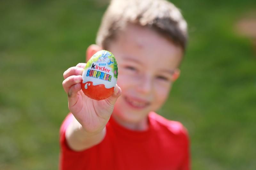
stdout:
[(149, 128), (134, 131), (111, 117), (105, 138), (89, 149), (76, 152), (68, 147), (65, 130), (69, 114), (60, 128), (61, 170), (189, 170), (189, 140), (180, 122), (151, 112)]

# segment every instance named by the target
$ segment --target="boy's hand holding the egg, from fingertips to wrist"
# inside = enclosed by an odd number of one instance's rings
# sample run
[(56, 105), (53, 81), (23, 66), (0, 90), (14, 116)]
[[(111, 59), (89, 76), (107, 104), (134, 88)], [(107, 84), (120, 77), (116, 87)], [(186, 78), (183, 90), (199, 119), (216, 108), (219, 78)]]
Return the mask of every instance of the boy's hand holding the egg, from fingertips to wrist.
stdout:
[(116, 85), (114, 93), (105, 100), (93, 100), (82, 91), (82, 73), (86, 63), (79, 63), (70, 67), (63, 74), (62, 82), (68, 94), (68, 108), (76, 120), (88, 133), (100, 133), (106, 126), (117, 98), (121, 95), (121, 88)]

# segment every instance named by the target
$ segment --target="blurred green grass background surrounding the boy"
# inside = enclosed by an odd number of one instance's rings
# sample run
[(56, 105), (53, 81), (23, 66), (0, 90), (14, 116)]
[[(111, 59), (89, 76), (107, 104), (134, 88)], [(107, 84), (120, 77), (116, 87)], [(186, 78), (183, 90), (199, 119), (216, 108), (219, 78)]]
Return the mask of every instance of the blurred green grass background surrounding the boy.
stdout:
[[(189, 27), (159, 111), (182, 122), (194, 170), (256, 169), (256, 2), (173, 0)], [(0, 1), (0, 169), (58, 169), (63, 72), (85, 61), (107, 0)]]

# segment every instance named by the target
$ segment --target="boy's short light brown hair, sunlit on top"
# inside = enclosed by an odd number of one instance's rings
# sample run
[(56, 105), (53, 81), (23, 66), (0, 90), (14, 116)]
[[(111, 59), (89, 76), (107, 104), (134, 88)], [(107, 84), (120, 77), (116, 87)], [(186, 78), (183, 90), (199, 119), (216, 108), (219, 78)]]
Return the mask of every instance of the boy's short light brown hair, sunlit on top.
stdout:
[(157, 33), (180, 45), (185, 51), (187, 22), (180, 10), (165, 0), (111, 0), (105, 12), (96, 43), (104, 49), (128, 23), (152, 28)]

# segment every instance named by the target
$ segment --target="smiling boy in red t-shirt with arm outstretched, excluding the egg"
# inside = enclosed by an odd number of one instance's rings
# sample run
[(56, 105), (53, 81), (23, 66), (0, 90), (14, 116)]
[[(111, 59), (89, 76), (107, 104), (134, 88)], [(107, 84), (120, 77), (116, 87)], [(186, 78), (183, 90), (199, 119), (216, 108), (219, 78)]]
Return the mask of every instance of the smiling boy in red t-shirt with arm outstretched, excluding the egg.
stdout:
[(71, 113), (60, 128), (60, 169), (190, 169), (186, 129), (155, 113), (179, 77), (186, 41), (186, 21), (173, 4), (111, 1), (87, 60), (111, 51), (118, 86), (108, 99), (93, 100), (81, 90), (85, 63), (64, 72)]

